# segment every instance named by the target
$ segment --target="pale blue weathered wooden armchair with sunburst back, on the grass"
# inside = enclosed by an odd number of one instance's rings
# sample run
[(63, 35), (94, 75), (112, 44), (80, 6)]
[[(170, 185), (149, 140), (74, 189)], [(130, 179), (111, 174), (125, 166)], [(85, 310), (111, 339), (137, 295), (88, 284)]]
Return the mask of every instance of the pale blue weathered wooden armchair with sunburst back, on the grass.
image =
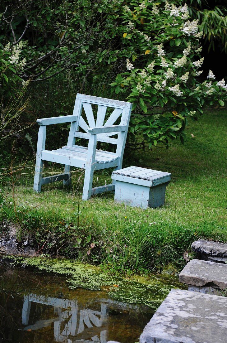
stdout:
[[(97, 107), (94, 116), (93, 108)], [(113, 109), (108, 115), (109, 108)], [(115, 181), (110, 185), (92, 188), (94, 170), (115, 168), (121, 169), (124, 146), (127, 137), (132, 104), (119, 100), (77, 94), (72, 115), (38, 119), (40, 125), (37, 143), (34, 190), (41, 191), (41, 186), (54, 181), (63, 180), (70, 183), (71, 167), (85, 169), (83, 200), (104, 191), (114, 190)], [(116, 121), (120, 122), (114, 125)], [(45, 150), (46, 126), (71, 122), (67, 145), (57, 150)], [(81, 132), (82, 130), (82, 132)], [(112, 137), (114, 136), (114, 137)], [(116, 138), (115, 138), (116, 137)], [(76, 138), (88, 139), (88, 147), (76, 145)], [(96, 149), (96, 143), (116, 144), (116, 152)], [(42, 177), (43, 161), (65, 165), (63, 174)]]

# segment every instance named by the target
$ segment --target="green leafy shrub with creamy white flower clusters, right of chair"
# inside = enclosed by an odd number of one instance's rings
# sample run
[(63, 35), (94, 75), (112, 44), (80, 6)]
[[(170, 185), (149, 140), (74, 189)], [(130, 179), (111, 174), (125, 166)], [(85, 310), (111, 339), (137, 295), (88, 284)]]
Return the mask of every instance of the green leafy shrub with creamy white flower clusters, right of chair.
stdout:
[(148, 146), (166, 145), (179, 137), (191, 117), (197, 120), (203, 105), (224, 106), (227, 85), (196, 77), (203, 63), (200, 56), (198, 20), (190, 20), (187, 5), (160, 0), (124, 5), (118, 31), (128, 56), (126, 71), (111, 83), (115, 93), (130, 92), (134, 117), (130, 131), (142, 132)]

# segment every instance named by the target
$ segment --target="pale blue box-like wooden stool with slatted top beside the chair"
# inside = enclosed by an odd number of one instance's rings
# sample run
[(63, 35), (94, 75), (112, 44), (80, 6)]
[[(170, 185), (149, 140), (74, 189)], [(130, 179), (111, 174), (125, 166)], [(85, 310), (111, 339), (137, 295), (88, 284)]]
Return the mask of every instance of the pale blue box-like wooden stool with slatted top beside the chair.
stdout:
[(113, 171), (111, 177), (116, 182), (116, 202), (146, 209), (164, 205), (165, 188), (170, 182), (171, 174), (132, 166)]

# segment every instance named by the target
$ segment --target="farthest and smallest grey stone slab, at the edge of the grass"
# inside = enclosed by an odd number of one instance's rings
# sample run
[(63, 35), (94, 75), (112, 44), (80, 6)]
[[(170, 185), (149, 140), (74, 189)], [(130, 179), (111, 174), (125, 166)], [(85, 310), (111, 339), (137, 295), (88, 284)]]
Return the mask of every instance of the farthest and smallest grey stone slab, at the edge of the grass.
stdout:
[(192, 250), (199, 252), (203, 260), (227, 262), (227, 244), (199, 239), (192, 243)]

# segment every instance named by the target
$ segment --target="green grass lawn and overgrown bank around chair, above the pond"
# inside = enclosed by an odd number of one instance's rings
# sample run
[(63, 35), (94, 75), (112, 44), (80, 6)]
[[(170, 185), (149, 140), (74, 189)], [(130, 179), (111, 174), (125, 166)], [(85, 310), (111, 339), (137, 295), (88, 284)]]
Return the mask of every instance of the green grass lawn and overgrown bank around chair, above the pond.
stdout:
[[(11, 230), (22, 243), (31, 240), (40, 252), (102, 263), (114, 273), (184, 263), (183, 253), (198, 237), (227, 242), (226, 121), (226, 111), (207, 111), (199, 123), (190, 123), (185, 145), (125, 153), (125, 166), (172, 173), (165, 205), (158, 209), (115, 204), (111, 193), (81, 201), (80, 170), (70, 189), (59, 182), (35, 194), (32, 167), (15, 168), (9, 186), (1, 187), (1, 231)], [(110, 175), (96, 173), (95, 186), (109, 183)]]

